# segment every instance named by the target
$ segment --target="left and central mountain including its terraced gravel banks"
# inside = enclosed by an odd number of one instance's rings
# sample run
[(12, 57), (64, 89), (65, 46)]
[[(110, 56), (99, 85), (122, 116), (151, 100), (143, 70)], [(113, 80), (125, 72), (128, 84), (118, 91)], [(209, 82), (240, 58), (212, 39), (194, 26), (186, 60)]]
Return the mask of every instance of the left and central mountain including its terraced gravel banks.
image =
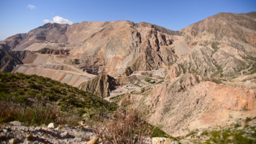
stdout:
[[(24, 65), (12, 72), (41, 75), (79, 86), (102, 73), (122, 77), (133, 71), (167, 67), (178, 58), (171, 35), (181, 35), (181, 32), (146, 22), (45, 24), (29, 31), (26, 37), (23, 35), (20, 44), (9, 46), (9, 50), (33, 52), (23, 60)], [(11, 37), (7, 40), (14, 41)], [(53, 56), (56, 54), (64, 56)], [(96, 90), (95, 94), (106, 97), (112, 89), (108, 88), (106, 94)]]

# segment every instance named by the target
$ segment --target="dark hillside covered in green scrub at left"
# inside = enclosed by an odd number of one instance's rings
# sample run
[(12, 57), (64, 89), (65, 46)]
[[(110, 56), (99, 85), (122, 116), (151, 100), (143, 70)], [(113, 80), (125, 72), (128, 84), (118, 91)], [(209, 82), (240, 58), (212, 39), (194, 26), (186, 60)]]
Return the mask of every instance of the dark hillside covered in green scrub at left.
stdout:
[[(30, 125), (49, 124), (49, 122), (58, 122), (56, 117), (58, 114), (63, 118), (75, 116), (73, 120), (70, 119), (70, 124), (75, 126), (79, 120), (83, 119), (82, 116), (85, 113), (93, 117), (93, 115), (117, 109), (115, 103), (49, 78), (1, 72), (0, 79), (0, 122), (18, 120)], [(38, 105), (41, 105), (41, 110), (37, 107)], [(39, 110), (42, 113), (33, 114)], [(40, 119), (43, 113), (47, 117)], [(51, 116), (54, 119), (47, 120)], [(63, 122), (66, 124), (67, 120)]]

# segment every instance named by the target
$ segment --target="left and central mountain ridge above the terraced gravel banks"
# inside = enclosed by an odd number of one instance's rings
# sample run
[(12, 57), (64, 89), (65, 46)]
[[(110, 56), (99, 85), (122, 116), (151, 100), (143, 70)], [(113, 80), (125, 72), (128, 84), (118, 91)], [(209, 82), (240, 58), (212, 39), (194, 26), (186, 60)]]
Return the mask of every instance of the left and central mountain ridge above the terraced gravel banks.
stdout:
[(138, 71), (171, 65), (178, 58), (171, 35), (181, 33), (146, 22), (82, 22), (72, 26), (45, 24), (1, 43), (3, 49), (16, 51), (68, 49), (72, 59), (83, 69), (96, 67), (98, 70), (95, 72), (89, 71), (96, 74), (106, 72), (116, 77), (125, 74), (127, 67)]

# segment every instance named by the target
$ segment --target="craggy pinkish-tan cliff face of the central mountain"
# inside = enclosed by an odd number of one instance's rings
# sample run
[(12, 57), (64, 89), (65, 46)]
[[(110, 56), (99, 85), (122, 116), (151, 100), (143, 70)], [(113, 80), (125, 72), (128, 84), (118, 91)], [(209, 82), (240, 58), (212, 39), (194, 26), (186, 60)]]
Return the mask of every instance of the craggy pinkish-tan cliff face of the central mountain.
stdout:
[(175, 62), (171, 34), (179, 32), (129, 21), (82, 22), (68, 27), (66, 32), (70, 45), (77, 47), (70, 51), (72, 55), (79, 56), (79, 61), (95, 57), (87, 67), (91, 63), (99, 69), (105, 66), (104, 71), (114, 77), (122, 75), (127, 67), (138, 71)]

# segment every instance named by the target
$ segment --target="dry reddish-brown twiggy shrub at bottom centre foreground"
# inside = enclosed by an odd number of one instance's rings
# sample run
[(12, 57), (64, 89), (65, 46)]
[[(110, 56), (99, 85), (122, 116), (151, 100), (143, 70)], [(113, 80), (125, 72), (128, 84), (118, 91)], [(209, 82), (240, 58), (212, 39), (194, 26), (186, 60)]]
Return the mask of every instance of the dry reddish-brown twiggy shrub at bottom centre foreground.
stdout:
[[(97, 120), (102, 122), (103, 119)], [(127, 109), (127, 111), (118, 109), (114, 113), (114, 118), (95, 124), (92, 128), (102, 139), (102, 143), (145, 143), (146, 138), (151, 134), (150, 125), (143, 113), (137, 109)]]

